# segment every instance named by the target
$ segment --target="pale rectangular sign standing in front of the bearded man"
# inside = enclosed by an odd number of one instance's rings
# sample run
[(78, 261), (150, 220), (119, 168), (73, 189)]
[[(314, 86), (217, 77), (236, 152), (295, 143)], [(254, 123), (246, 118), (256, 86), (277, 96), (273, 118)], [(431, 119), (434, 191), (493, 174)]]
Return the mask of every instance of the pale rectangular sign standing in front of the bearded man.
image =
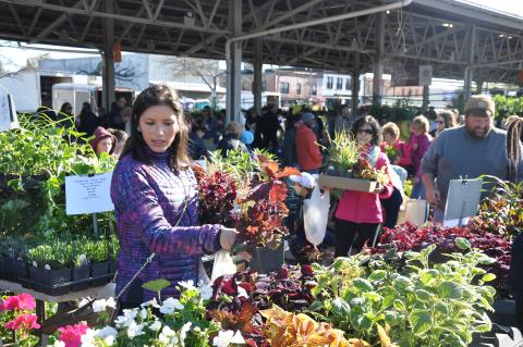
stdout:
[(483, 179), (451, 179), (445, 206), (443, 226), (463, 226), (477, 214)]

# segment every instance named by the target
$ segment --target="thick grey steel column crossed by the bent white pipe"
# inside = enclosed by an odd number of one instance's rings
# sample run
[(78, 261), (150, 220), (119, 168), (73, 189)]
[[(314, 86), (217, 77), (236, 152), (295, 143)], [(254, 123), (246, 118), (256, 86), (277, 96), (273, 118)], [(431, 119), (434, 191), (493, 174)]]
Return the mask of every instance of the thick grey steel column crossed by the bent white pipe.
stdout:
[[(242, 34), (242, 0), (229, 1), (229, 17), (233, 36)], [(227, 123), (241, 120), (242, 42), (227, 41)]]

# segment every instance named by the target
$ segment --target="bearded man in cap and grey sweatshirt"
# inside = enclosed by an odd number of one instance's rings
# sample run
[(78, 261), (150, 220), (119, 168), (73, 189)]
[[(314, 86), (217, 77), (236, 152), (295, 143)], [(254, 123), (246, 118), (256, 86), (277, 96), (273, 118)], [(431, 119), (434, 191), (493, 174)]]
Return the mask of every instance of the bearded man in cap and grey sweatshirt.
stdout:
[[(428, 203), (435, 205), (434, 222), (442, 222), (451, 179), (491, 175), (509, 178), (507, 133), (492, 125), (495, 104), (486, 95), (472, 96), (465, 104), (465, 124), (449, 128), (433, 141), (422, 160), (422, 181)], [(516, 163), (523, 178), (523, 161)], [(437, 178), (436, 187), (434, 179)], [(491, 186), (484, 185), (484, 198)]]

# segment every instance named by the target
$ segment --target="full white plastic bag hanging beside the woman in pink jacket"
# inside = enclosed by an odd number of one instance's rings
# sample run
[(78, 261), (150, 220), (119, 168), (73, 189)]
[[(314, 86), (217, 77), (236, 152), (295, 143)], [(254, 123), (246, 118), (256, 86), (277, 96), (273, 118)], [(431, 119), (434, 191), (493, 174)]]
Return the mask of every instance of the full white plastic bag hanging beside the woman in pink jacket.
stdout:
[(303, 201), (305, 237), (314, 246), (321, 244), (325, 238), (327, 222), (329, 220), (329, 191), (325, 190), (324, 194), (320, 194), (317, 185), (313, 189), (311, 199)]

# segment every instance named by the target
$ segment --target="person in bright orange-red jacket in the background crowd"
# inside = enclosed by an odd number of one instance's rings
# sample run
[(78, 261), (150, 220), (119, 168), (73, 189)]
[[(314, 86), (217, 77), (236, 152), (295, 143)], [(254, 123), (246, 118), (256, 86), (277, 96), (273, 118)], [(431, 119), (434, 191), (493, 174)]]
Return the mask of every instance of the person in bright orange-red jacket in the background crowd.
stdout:
[(316, 126), (316, 119), (311, 112), (304, 112), (300, 117), (300, 122), (296, 123), (297, 163), (301, 171), (309, 174), (319, 173), (323, 160), (318, 138), (314, 133)]

